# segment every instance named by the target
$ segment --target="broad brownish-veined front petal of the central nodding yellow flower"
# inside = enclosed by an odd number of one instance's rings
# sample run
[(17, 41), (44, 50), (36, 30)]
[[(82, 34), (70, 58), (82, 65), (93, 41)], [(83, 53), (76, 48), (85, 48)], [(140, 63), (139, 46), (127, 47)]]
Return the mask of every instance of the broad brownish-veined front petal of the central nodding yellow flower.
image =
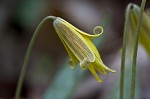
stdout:
[(57, 18), (53, 22), (53, 25), (65, 46), (80, 61), (81, 67), (86, 68), (90, 63), (95, 61), (94, 52), (81, 34), (62, 21), (61, 18)]

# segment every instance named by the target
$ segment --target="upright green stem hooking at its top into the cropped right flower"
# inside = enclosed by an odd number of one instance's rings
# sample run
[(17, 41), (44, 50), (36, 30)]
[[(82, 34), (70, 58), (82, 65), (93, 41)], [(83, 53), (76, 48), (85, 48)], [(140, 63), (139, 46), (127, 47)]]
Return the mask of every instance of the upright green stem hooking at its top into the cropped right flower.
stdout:
[(129, 20), (130, 7), (131, 7), (131, 4), (127, 7), (126, 15), (125, 15), (122, 56), (121, 56), (120, 98), (119, 99), (123, 99), (123, 97), (124, 97), (124, 72), (125, 72), (125, 59), (126, 59), (126, 41), (127, 41), (127, 33), (128, 33), (128, 20)]

